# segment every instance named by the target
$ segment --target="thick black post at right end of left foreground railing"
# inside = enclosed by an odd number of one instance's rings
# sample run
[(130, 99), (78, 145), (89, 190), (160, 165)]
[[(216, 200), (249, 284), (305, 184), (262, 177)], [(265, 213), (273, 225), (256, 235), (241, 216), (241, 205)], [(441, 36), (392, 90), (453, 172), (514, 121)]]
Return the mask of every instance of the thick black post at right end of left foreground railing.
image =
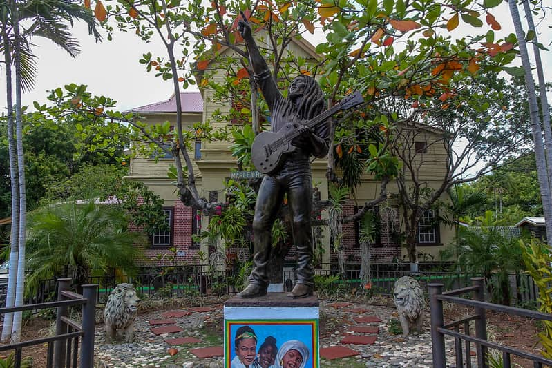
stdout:
[(81, 368), (94, 367), (94, 334), (96, 327), (97, 284), (82, 285), (82, 297), (86, 304), (82, 307)]

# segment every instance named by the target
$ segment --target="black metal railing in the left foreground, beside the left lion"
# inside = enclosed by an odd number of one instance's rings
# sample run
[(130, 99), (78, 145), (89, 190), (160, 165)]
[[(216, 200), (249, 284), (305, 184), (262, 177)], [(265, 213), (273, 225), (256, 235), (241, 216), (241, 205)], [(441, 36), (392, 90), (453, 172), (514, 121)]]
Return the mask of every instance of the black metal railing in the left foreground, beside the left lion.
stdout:
[[(55, 336), (37, 338), (0, 346), (0, 351), (15, 351), (15, 368), (21, 366), (24, 347), (47, 345), (46, 367), (55, 368), (93, 368), (94, 367), (94, 331), (96, 308), (96, 284), (82, 285), (82, 295), (69, 291), (71, 279), (57, 280), (57, 301), (41, 304), (26, 304), (21, 307), (0, 308), (0, 314), (17, 311), (37, 311), (57, 307)], [(82, 322), (71, 320), (68, 316), (70, 306), (82, 305)], [(80, 340), (80, 341), (79, 341)], [(80, 347), (80, 355), (79, 355)], [(79, 364), (80, 362), (80, 364)]]

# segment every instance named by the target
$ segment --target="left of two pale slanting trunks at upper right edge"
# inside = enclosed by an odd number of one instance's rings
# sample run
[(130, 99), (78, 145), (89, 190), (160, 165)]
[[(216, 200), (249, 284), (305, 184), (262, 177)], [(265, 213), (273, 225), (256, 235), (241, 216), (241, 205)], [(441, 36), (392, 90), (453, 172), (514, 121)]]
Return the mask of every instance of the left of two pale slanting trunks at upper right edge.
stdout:
[(527, 87), (527, 97), (529, 99), (529, 116), (531, 117), (531, 130), (533, 133), (533, 142), (535, 144), (535, 158), (537, 162), (537, 174), (540, 184), (540, 196), (542, 199), (542, 209), (544, 211), (544, 219), (546, 222), (546, 236), (548, 245), (552, 247), (552, 199), (550, 197), (550, 184), (548, 170), (546, 165), (546, 157), (544, 155), (544, 146), (542, 144), (542, 129), (539, 121), (539, 107), (537, 104), (537, 96), (535, 93), (535, 82), (531, 75), (531, 63), (529, 62), (529, 54), (525, 43), (525, 35), (522, 29), (520, 13), (517, 11), (515, 1), (508, 1), (510, 13), (515, 28), (515, 35), (520, 45), (520, 55), (522, 57), (522, 65), (525, 70), (525, 84)]

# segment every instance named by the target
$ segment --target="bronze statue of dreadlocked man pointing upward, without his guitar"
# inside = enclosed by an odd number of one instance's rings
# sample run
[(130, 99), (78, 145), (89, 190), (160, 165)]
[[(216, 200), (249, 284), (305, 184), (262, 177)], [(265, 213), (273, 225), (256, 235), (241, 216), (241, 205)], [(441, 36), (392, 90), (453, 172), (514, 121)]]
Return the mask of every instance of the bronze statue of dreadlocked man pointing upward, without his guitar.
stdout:
[(325, 120), (314, 128), (303, 125), (325, 109), (322, 90), (314, 78), (299, 75), (289, 86), (287, 97), (283, 97), (269, 71), (267, 62), (260, 55), (251, 35), (251, 26), (245, 17), (239, 21), (238, 30), (245, 40), (254, 78), (270, 109), (271, 130), (283, 128), (298, 130), (301, 134), (292, 140), (296, 149), (286, 157), (285, 163), (263, 178), (258, 192), (253, 220), (254, 269), (249, 285), (238, 298), (255, 298), (267, 293), (269, 284), (269, 260), (272, 251), (272, 224), (276, 220), (284, 195), (292, 215), (292, 235), (298, 253), (297, 280), (289, 298), (304, 298), (312, 295), (314, 269), (312, 267), (312, 232), (310, 215), (312, 210), (311, 155), (321, 158), (329, 146), (330, 122)]

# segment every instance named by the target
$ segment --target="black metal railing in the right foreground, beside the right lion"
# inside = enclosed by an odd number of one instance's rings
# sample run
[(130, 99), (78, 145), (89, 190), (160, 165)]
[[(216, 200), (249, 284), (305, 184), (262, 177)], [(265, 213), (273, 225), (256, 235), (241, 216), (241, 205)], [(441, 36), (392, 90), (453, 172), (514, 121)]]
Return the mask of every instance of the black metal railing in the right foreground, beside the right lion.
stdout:
[[(475, 345), (478, 368), (489, 367), (489, 349), (495, 349), (502, 354), (502, 367), (511, 367), (511, 356), (519, 356), (520, 358), (530, 360), (533, 362), (533, 367), (535, 368), (542, 368), (543, 365), (552, 366), (552, 360), (542, 358), (542, 356), (488, 341), (485, 313), (486, 311), (499, 311), (513, 316), (524, 316), (526, 318), (547, 321), (552, 321), (552, 315), (484, 302), (484, 279), (472, 278), (471, 282), (471, 286), (446, 292), (443, 292), (444, 284), (428, 284), (431, 308), (433, 367), (447, 367), (445, 351), (446, 336), (454, 338), (455, 367), (472, 367), (470, 349), (470, 345), (472, 344)], [(471, 300), (459, 297), (466, 293), (472, 293)], [(472, 316), (461, 318), (445, 325), (443, 316), (444, 301), (473, 307), (474, 313)], [(472, 334), (472, 329), (470, 329), (470, 321), (475, 322), (475, 329), (473, 331), (475, 335)]]

